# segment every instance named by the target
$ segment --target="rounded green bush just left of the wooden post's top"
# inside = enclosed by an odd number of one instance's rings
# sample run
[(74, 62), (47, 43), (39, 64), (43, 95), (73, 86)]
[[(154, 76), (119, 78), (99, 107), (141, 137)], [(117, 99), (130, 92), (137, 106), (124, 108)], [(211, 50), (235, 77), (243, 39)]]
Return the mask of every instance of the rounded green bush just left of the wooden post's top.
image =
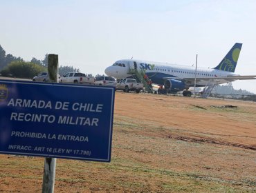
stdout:
[(6, 77), (32, 79), (35, 74), (42, 71), (46, 71), (46, 68), (41, 65), (25, 61), (12, 61), (1, 71), (1, 74)]

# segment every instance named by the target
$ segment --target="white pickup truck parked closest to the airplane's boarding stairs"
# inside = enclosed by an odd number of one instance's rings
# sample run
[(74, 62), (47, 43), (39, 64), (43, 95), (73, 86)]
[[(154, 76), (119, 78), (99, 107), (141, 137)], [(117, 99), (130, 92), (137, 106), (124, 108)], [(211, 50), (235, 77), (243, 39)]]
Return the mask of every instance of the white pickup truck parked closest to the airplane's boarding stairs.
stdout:
[(143, 90), (143, 83), (137, 83), (136, 79), (120, 79), (116, 83), (116, 90), (123, 90), (124, 92)]

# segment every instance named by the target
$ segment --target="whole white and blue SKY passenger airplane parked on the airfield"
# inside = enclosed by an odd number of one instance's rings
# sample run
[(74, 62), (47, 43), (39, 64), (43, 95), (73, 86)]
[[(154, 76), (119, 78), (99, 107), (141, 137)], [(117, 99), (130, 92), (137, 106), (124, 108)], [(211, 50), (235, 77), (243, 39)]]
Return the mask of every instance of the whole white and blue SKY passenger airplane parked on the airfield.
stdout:
[(192, 66), (123, 59), (107, 67), (105, 73), (116, 79), (125, 79), (134, 78), (136, 70), (138, 72), (143, 70), (152, 83), (164, 85), (164, 88), (170, 92), (183, 91), (184, 96), (191, 96), (192, 93), (188, 89), (194, 87), (195, 78), (196, 87), (256, 79), (256, 75), (240, 76), (234, 73), (241, 45), (242, 43), (235, 43), (219, 65), (212, 69), (197, 68), (195, 72), (195, 67)]

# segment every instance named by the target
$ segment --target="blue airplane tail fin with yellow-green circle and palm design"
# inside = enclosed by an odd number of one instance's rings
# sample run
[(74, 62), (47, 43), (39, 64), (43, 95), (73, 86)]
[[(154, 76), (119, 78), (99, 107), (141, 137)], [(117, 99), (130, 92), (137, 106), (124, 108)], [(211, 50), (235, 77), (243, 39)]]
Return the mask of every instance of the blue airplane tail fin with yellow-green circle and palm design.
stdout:
[(235, 43), (235, 45), (229, 50), (226, 57), (224, 57), (214, 69), (223, 70), (227, 72), (235, 72), (235, 68), (237, 66), (237, 60), (240, 54), (242, 43)]

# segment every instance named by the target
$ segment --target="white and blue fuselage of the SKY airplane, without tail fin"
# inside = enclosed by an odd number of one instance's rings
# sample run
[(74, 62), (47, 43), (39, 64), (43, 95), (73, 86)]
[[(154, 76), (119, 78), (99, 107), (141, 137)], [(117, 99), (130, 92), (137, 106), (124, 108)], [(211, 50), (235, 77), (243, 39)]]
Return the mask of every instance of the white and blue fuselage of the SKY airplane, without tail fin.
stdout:
[[(163, 85), (166, 79), (191, 79), (189, 86), (194, 86), (194, 79), (200, 79), (196, 86), (205, 86), (214, 78), (237, 76), (238, 74), (215, 70), (210, 68), (195, 68), (195, 66), (176, 65), (170, 63), (159, 63), (153, 61), (142, 61), (134, 59), (125, 59), (116, 61), (113, 65), (106, 68), (105, 73), (116, 79), (131, 78), (131, 70), (144, 70), (147, 77), (153, 83)], [(205, 79), (205, 80), (203, 80)], [(217, 83), (227, 83), (225, 79), (218, 79)]]

